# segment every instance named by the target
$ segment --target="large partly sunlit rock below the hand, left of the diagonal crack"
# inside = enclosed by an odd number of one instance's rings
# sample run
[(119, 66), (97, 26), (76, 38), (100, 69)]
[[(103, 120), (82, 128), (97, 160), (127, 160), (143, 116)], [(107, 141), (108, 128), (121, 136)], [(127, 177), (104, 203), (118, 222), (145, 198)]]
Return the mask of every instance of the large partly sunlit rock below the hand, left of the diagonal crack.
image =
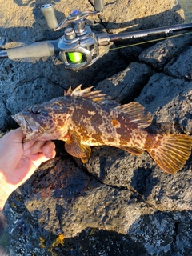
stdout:
[[(28, 189), (24, 190), (26, 194), (31, 192), (30, 198), (25, 202), (27, 210), (45, 230), (53, 234), (62, 230), (65, 238), (71, 238), (90, 226), (127, 234), (130, 225), (141, 214), (154, 212), (144, 202), (135, 205), (138, 198), (130, 190), (119, 191), (105, 186), (94, 178), (87, 177), (83, 170), (71, 165), (68, 159), (59, 160), (54, 167), (49, 168), (51, 171), (41, 178), (41, 182), (37, 182), (36, 177), (30, 186), (26, 186)], [(29, 191), (30, 187), (33, 188), (32, 191)], [(46, 208), (45, 202), (48, 206)], [(121, 209), (118, 208), (119, 202)], [(50, 218), (47, 218), (47, 211)], [(129, 216), (126, 216), (127, 211), (130, 212)]]

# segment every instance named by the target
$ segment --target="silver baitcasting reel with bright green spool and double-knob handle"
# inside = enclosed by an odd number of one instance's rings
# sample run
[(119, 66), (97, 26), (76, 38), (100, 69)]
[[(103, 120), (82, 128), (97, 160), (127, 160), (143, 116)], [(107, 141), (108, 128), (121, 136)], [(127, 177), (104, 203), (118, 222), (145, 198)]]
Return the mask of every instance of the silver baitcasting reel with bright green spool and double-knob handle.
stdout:
[(89, 15), (102, 13), (103, 2), (95, 0), (95, 11), (74, 10), (58, 24), (52, 4), (43, 5), (41, 10), (51, 30), (66, 28), (62, 38), (58, 39), (59, 58), (66, 68), (79, 70), (92, 65), (99, 56), (98, 41), (88, 24), (93, 22), (86, 19)]

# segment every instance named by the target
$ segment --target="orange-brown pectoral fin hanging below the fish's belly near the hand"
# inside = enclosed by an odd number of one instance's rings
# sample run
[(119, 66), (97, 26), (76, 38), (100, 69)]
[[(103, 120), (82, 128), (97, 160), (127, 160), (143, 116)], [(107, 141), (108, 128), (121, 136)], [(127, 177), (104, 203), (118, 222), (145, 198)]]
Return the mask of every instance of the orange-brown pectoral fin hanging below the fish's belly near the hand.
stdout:
[(83, 163), (87, 162), (90, 158), (90, 146), (83, 145), (80, 136), (74, 131), (70, 130), (68, 135), (65, 143), (66, 151), (75, 158), (80, 158)]

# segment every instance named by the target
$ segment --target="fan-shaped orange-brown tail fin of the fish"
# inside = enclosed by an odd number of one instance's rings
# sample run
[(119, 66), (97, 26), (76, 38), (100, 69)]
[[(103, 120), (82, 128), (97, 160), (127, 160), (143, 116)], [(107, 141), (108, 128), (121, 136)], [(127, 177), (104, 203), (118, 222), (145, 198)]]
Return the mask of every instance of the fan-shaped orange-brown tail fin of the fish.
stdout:
[(163, 134), (154, 136), (154, 146), (146, 151), (168, 174), (182, 169), (190, 156), (192, 138), (185, 134)]

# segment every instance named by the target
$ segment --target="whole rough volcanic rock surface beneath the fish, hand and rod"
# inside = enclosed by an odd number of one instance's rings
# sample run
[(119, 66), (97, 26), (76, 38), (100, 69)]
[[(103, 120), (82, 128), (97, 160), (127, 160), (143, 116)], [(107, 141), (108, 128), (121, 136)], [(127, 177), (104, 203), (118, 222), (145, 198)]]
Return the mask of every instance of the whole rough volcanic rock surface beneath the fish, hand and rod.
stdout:
[[(8, 5), (10, 2), (10, 5)], [(43, 1), (2, 2), (3, 49), (55, 39), (40, 13)], [(58, 19), (77, 2), (53, 1)], [(93, 10), (80, 1), (81, 10)], [(113, 14), (113, 15), (112, 15)], [(110, 33), (182, 22), (174, 1), (105, 1), (95, 30)], [(94, 20), (94, 18), (92, 18)], [(167, 38), (152, 46), (105, 47), (86, 70), (65, 70), (57, 58), (0, 63), (0, 130), (14, 128), (10, 115), (63, 94), (69, 86), (94, 85), (121, 103), (136, 101), (153, 114), (154, 133), (184, 133), (192, 127), (192, 36)], [(113, 48), (114, 49), (114, 48)], [(107, 53), (107, 54), (106, 54)], [(192, 255), (192, 157), (177, 174), (164, 173), (149, 154), (134, 156), (94, 147), (82, 164), (56, 142), (57, 157), (43, 164), (15, 191), (4, 213), (11, 255)], [(6, 241), (7, 242), (7, 241)]]

